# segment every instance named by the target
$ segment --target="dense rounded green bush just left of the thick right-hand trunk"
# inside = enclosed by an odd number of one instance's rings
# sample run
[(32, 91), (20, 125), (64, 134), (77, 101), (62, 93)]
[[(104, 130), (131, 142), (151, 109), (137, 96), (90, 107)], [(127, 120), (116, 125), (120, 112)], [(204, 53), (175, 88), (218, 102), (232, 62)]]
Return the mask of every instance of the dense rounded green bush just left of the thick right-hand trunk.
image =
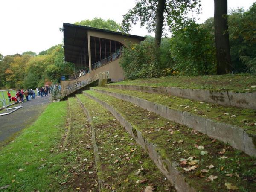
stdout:
[(190, 23), (170, 40), (175, 70), (185, 75), (215, 74), (215, 47), (212, 35), (203, 26)]

